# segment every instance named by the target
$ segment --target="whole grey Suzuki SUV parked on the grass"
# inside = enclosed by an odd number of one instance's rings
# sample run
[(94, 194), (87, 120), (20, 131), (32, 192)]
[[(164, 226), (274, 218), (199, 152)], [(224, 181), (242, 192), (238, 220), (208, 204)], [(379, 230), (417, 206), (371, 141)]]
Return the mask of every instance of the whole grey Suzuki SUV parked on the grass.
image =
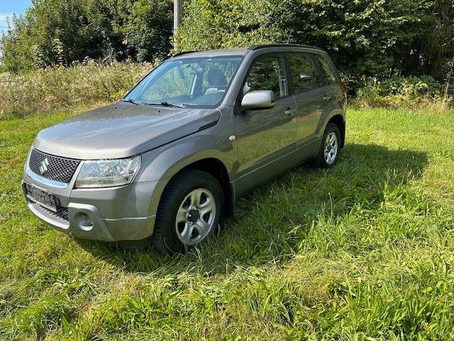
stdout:
[(336, 164), (346, 90), (304, 45), (182, 53), (121, 102), (40, 131), (25, 165), (28, 207), (67, 234), (199, 244), (239, 195), (309, 161)]

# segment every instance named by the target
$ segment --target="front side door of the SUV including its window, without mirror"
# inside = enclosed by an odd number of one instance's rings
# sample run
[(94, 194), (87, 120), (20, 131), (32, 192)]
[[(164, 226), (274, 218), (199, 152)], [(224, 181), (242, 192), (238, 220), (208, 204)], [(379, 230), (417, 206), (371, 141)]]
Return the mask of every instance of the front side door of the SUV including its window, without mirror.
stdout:
[(282, 54), (260, 55), (253, 61), (240, 97), (254, 90), (275, 92), (276, 105), (272, 109), (243, 111), (236, 117), (240, 191), (295, 163), (296, 129), (292, 114), (296, 103), (289, 94)]

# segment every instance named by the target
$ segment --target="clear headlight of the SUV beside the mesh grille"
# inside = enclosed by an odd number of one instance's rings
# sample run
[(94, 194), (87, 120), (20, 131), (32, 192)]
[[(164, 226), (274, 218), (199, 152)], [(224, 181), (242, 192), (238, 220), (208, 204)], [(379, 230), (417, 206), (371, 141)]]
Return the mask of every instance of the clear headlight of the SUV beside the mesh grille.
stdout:
[(77, 175), (77, 188), (114, 187), (131, 183), (140, 167), (140, 155), (133, 158), (84, 161)]

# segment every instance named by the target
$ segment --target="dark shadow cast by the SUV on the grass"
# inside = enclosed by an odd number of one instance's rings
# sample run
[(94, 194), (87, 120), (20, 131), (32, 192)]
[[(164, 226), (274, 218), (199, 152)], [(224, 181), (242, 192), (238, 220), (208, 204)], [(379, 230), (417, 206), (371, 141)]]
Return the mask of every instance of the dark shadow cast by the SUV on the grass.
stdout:
[[(222, 222), (221, 232), (187, 254), (161, 256), (152, 247), (123, 249), (114, 243), (77, 239), (96, 258), (126, 272), (203, 276), (269, 261), (285, 262), (314, 220), (336, 220), (353, 207), (377, 210), (384, 190), (422, 176), (426, 153), (389, 150), (374, 144), (347, 144), (335, 168), (301, 166), (240, 198), (236, 217)], [(301, 233), (294, 234), (295, 229)]]

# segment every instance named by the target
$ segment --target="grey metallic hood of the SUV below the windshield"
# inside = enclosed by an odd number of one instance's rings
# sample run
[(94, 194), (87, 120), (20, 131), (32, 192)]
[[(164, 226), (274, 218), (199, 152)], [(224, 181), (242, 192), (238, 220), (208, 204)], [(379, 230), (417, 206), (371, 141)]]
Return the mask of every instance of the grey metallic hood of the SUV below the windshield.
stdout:
[(126, 158), (216, 124), (218, 109), (117, 103), (40, 131), (34, 148), (78, 159)]

